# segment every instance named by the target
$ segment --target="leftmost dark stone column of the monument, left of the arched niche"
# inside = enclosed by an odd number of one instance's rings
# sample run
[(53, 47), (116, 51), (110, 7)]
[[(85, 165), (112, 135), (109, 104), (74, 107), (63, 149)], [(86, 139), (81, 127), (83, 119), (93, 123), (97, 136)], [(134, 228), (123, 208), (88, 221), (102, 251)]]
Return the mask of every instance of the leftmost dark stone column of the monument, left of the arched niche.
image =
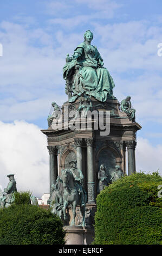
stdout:
[(49, 186), (51, 195), (51, 185), (56, 182), (58, 176), (57, 167), (57, 146), (47, 146), (49, 152)]

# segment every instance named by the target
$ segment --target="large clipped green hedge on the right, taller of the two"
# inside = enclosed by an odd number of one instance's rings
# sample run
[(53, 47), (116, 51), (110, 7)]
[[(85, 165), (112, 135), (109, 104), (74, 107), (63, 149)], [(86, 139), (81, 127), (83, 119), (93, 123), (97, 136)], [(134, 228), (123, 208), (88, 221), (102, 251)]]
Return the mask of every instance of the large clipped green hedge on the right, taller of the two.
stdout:
[(98, 195), (94, 244), (151, 245), (161, 243), (161, 206), (157, 174), (125, 176)]

